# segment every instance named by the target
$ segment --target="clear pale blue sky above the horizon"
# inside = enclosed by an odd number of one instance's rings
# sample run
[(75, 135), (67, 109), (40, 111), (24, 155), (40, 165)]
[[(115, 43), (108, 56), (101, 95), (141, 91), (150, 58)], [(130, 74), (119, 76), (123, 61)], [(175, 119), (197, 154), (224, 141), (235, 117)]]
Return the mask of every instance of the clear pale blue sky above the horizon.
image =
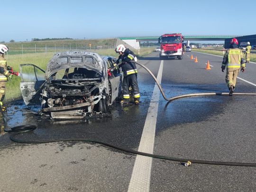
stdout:
[(255, 0), (9, 0), (0, 42), (32, 38), (256, 34)]

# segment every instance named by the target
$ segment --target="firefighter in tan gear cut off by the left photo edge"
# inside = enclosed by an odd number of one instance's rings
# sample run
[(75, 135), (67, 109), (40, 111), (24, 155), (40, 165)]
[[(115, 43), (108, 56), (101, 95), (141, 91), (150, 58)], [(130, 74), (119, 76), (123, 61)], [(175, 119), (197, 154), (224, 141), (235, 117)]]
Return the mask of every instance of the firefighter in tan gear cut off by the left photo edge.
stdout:
[(3, 100), (5, 96), (5, 84), (7, 82), (7, 77), (12, 78), (12, 74), (7, 70), (7, 62), (4, 58), (4, 53), (8, 51), (6, 45), (0, 44), (0, 107), (2, 111), (6, 110), (3, 106)]

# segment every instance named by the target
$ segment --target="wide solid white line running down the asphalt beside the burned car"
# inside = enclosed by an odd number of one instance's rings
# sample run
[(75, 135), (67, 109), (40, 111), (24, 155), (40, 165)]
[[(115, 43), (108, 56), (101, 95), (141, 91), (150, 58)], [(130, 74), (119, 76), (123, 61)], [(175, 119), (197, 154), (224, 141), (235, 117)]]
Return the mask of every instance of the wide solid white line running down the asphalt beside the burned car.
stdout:
[[(164, 61), (161, 60), (157, 81), (161, 83)], [(159, 89), (155, 84), (153, 95), (147, 111), (146, 122), (139, 143), (138, 151), (151, 153), (154, 151), (155, 143), (155, 125), (157, 118)], [(151, 177), (152, 158), (137, 155), (133, 167), (128, 192), (149, 192)]]

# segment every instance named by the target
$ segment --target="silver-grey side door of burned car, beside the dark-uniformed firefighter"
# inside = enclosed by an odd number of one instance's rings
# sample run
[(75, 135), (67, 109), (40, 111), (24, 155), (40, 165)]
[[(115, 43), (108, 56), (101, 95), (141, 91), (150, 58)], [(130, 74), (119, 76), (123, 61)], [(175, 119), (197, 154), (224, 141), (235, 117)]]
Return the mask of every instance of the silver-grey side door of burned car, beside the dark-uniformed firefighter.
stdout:
[[(116, 60), (114, 58), (108, 59), (108, 66), (110, 68), (114, 68), (114, 63), (116, 63)], [(111, 103), (114, 102), (120, 95), (122, 90), (122, 73), (120, 72), (119, 67), (114, 68), (114, 71), (111, 72), (111, 77), (109, 77), (109, 81), (111, 84)]]

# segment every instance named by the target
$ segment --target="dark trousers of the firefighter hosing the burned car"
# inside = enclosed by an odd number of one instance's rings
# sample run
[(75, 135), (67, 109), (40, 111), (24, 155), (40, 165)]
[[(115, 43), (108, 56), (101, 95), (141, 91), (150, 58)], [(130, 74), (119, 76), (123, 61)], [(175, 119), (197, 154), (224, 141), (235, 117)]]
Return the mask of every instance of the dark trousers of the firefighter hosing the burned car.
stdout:
[(139, 89), (138, 89), (137, 74), (124, 76), (123, 86), (122, 86), (124, 100), (130, 99), (129, 87), (132, 88), (134, 100), (139, 100), (140, 95), (139, 95)]

